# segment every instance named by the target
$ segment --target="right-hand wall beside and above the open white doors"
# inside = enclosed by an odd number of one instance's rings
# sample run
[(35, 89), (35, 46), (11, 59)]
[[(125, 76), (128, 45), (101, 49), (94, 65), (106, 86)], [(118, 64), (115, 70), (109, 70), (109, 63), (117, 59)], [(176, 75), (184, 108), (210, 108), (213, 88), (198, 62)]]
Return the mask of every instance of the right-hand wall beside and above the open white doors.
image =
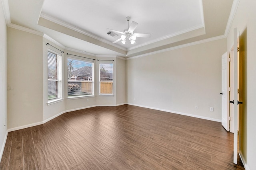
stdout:
[(242, 110), (242, 131), (241, 131), (241, 149), (244, 157), (245, 168), (248, 170), (256, 169), (256, 18), (255, 18), (255, 0), (240, 0), (236, 15), (232, 22), (227, 40), (227, 50), (232, 47), (234, 28), (237, 27), (239, 35), (246, 37), (246, 59), (245, 61), (245, 86), (244, 101)]

